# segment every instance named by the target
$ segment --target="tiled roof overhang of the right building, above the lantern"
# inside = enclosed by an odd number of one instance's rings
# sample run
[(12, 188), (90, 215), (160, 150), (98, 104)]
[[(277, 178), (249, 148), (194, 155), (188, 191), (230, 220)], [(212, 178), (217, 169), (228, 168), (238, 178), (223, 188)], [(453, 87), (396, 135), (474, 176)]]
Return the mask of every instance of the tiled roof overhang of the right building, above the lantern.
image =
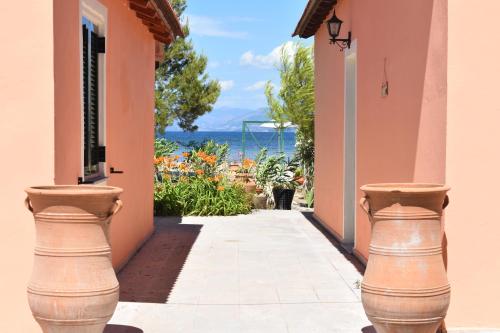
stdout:
[(292, 36), (314, 36), (336, 4), (337, 0), (309, 0)]

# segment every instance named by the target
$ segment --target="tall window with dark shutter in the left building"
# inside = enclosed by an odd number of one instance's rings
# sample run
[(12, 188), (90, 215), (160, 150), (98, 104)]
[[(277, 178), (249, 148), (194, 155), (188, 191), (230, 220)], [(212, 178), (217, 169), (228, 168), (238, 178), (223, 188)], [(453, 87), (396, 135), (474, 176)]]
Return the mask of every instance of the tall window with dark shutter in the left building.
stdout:
[(104, 103), (102, 95), (105, 39), (100, 27), (82, 19), (83, 182), (105, 175)]

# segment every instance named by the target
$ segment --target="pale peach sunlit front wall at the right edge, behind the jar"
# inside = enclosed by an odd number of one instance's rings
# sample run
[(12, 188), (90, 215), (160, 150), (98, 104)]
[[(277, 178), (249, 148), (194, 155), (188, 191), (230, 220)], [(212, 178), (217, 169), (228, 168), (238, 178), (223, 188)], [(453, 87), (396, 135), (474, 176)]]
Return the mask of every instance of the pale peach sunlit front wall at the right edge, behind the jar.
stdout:
[(447, 324), (500, 330), (500, 2), (470, 4), (448, 1)]

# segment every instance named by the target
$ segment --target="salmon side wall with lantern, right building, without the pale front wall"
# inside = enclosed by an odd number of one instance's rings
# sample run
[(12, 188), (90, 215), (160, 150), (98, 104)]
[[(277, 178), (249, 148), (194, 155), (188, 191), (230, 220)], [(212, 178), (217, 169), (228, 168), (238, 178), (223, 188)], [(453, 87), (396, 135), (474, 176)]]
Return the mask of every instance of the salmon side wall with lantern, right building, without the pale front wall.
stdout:
[[(356, 188), (376, 182), (443, 182), (446, 1), (339, 1), (357, 57)], [(328, 16), (329, 18), (330, 16)], [(344, 57), (323, 24), (315, 37), (315, 214), (343, 236)], [(382, 97), (385, 72), (389, 96)], [(357, 190), (357, 200), (361, 198)], [(355, 251), (366, 260), (370, 224), (357, 207)]]

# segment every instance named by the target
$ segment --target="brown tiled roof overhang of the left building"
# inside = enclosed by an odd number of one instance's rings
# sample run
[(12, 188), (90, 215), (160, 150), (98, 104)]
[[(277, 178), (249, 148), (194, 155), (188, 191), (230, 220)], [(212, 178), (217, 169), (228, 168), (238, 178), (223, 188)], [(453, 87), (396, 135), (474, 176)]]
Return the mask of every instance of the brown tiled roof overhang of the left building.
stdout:
[(179, 18), (168, 0), (129, 0), (129, 7), (159, 43), (168, 45), (176, 37), (184, 36)]

